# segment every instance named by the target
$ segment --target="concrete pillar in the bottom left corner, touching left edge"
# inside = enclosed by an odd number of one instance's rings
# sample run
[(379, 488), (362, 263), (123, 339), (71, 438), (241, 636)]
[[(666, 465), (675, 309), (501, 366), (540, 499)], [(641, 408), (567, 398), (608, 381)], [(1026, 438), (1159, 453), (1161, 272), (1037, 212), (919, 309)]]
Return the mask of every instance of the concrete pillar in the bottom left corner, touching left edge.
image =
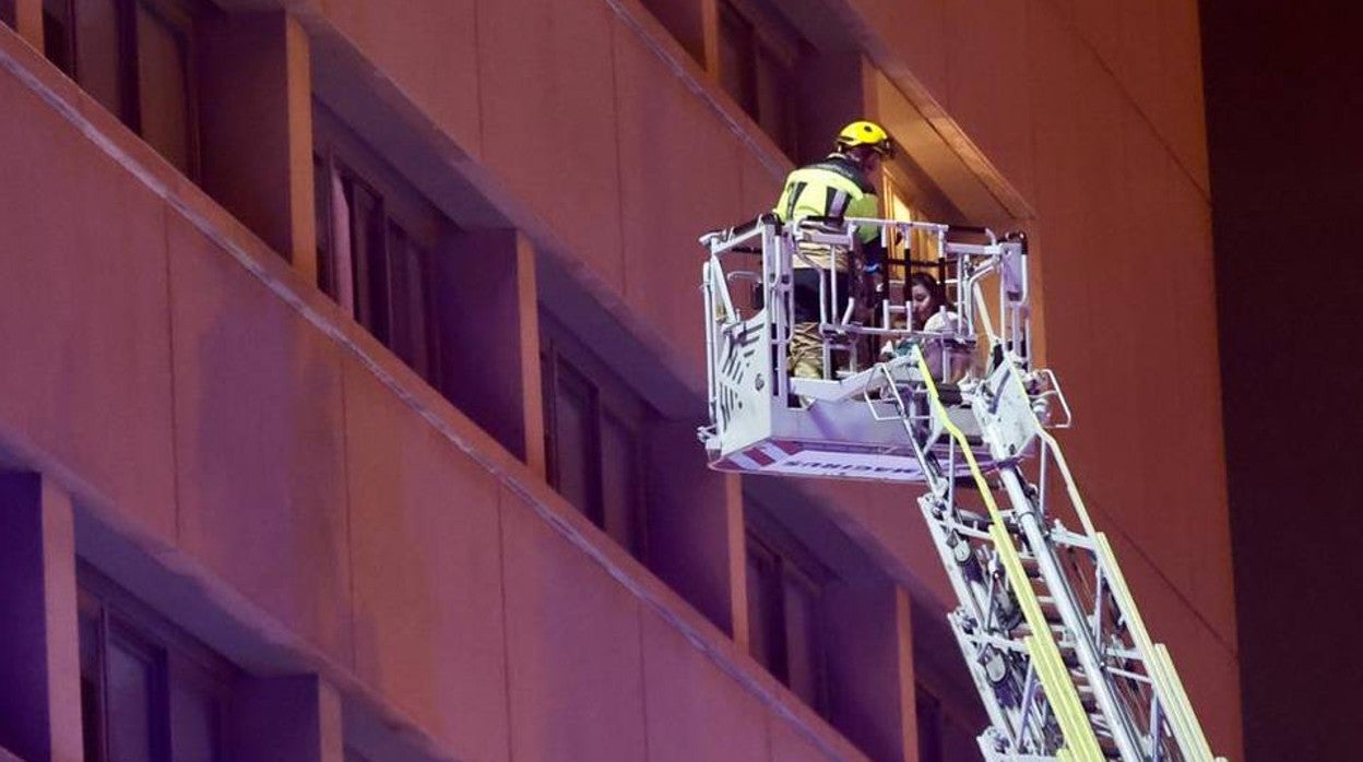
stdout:
[(0, 474), (0, 747), (26, 762), (82, 759), (78, 639), (71, 500)]

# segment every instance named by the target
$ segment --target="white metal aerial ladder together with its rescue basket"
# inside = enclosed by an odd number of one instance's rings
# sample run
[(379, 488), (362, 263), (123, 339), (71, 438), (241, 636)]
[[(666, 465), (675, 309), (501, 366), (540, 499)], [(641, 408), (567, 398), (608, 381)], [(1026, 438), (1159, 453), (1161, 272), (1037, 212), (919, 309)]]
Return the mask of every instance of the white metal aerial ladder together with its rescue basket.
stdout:
[[(910, 312), (902, 279), (849, 294), (826, 277), (823, 375), (791, 378), (793, 270), (845, 262), (856, 284), (861, 226), (887, 243), (912, 232), (931, 240), (932, 258), (905, 260), (940, 275), (958, 319), (945, 333), (915, 331), (895, 323)], [(763, 217), (701, 241), (710, 384), (701, 439), (711, 466), (924, 485), (919, 506), (960, 604), (949, 622), (990, 717), (983, 757), (1212, 762), (1168, 652), (1146, 633), (1051, 435), (1073, 416), (1056, 375), (1029, 354), (1025, 239)], [(871, 341), (891, 352), (874, 360)], [(931, 352), (970, 361), (943, 378), (951, 365), (942, 357), (934, 368)]]

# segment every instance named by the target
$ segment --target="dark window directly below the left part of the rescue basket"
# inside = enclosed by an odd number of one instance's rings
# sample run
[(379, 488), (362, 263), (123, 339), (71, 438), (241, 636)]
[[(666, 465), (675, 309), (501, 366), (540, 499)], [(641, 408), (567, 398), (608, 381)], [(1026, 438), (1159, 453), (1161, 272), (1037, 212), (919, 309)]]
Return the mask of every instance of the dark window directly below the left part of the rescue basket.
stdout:
[(752, 530), (747, 533), (748, 627), (752, 657), (819, 713), (827, 713), (822, 574), (796, 563)]

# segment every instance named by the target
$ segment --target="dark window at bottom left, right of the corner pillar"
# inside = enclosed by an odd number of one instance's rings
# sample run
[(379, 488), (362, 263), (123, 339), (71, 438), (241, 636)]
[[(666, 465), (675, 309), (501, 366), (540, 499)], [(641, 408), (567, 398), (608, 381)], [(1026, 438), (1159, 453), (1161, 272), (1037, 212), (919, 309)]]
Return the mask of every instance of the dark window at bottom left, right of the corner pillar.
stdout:
[(86, 762), (222, 762), (236, 671), (80, 567), (80, 720)]

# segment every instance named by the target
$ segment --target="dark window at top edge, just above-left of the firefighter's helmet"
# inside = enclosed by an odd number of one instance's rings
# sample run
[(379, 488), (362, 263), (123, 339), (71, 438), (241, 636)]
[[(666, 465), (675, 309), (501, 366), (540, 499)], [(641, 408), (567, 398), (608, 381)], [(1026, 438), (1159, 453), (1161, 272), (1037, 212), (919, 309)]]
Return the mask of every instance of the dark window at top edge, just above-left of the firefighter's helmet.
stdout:
[(795, 67), (803, 41), (759, 0), (720, 3), (720, 82), (788, 155), (796, 155)]

